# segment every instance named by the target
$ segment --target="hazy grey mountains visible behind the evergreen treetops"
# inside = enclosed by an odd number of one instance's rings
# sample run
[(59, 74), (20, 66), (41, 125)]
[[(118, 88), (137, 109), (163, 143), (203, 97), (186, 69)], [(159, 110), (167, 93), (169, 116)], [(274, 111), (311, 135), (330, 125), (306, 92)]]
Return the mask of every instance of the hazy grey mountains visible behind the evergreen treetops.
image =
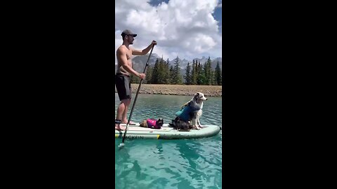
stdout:
[[(144, 68), (145, 68), (145, 64), (146, 64), (148, 58), (149, 58), (149, 55), (134, 57), (132, 59), (133, 69), (135, 69), (138, 72), (143, 73)], [(152, 53), (152, 55), (150, 57), (150, 60), (149, 60), (149, 65), (154, 66), (157, 58), (161, 59), (161, 57), (159, 57), (156, 53)], [(194, 59), (197, 60), (198, 62), (200, 62), (201, 65), (203, 65), (207, 61), (208, 57), (201, 57), (201, 58), (194, 58)], [(167, 58), (166, 59), (164, 58), (164, 61), (166, 61), (166, 60), (167, 60)], [(223, 67), (223, 58), (222, 57), (217, 57), (216, 59), (211, 59), (211, 60), (212, 60), (212, 63), (211, 63), (212, 69), (216, 68), (216, 64), (218, 64), (218, 62), (219, 62), (220, 69), (222, 69), (222, 67)], [(171, 65), (173, 66), (174, 62), (175, 62), (175, 59), (169, 59), (169, 62), (170, 62), (170, 66)], [(182, 75), (184, 75), (187, 63), (190, 62), (190, 65), (192, 66), (193, 59), (191, 59), (191, 60), (180, 59), (179, 62), (180, 62), (180, 73)], [(116, 73), (116, 71), (117, 71), (117, 65), (114, 66), (114, 72)]]

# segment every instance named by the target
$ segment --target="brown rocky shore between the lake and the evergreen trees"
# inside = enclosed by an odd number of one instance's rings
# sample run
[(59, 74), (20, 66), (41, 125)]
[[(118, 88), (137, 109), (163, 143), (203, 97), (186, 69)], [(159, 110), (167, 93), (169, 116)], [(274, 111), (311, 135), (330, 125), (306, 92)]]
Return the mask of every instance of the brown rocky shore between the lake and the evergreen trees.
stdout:
[[(139, 84), (131, 84), (132, 92), (136, 93)], [(117, 92), (115, 87), (115, 92)], [(222, 97), (223, 86), (218, 85), (157, 85), (142, 84), (140, 94), (169, 94), (192, 96), (197, 92), (204, 93), (207, 97)]]

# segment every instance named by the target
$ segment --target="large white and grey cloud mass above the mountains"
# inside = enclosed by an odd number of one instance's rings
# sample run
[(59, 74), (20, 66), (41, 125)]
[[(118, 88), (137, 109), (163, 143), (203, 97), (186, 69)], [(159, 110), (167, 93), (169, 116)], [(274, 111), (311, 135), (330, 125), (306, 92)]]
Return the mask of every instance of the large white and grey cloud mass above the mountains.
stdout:
[(156, 40), (154, 53), (164, 59), (222, 57), (222, 37), (212, 13), (218, 0), (169, 0), (151, 6), (149, 0), (115, 1), (115, 51), (121, 45), (121, 31), (138, 34), (133, 48), (143, 49)]

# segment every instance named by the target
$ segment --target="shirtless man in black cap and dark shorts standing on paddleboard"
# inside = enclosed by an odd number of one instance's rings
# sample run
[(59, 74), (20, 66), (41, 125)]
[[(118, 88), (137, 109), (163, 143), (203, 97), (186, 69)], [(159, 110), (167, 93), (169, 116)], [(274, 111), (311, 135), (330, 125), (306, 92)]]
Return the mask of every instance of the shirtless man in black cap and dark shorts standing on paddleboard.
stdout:
[(152, 41), (152, 43), (143, 50), (136, 50), (129, 45), (133, 44), (134, 37), (137, 34), (133, 34), (129, 29), (121, 32), (121, 37), (123, 38), (123, 44), (119, 46), (117, 49), (117, 73), (115, 76), (116, 79), (116, 88), (118, 92), (118, 97), (121, 103), (117, 109), (116, 120), (114, 120), (114, 129), (115, 130), (125, 130), (124, 127), (121, 127), (121, 123), (128, 123), (126, 119), (126, 113), (128, 112), (128, 106), (131, 102), (131, 79), (130, 76), (133, 74), (134, 76), (139, 77), (140, 79), (145, 78), (145, 73), (138, 73), (134, 69), (132, 69), (132, 55), (146, 55), (147, 52), (150, 51), (153, 45), (157, 45), (156, 41)]

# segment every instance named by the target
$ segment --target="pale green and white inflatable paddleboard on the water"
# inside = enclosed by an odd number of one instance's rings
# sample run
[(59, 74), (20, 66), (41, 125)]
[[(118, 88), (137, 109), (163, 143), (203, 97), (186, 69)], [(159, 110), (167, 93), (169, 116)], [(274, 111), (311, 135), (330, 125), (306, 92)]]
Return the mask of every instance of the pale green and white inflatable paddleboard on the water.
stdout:
[[(126, 124), (121, 124), (126, 127)], [(218, 125), (203, 125), (200, 130), (178, 131), (169, 124), (164, 124), (161, 129), (139, 127), (139, 123), (129, 124), (126, 139), (197, 139), (211, 137), (220, 132)], [(115, 139), (123, 139), (124, 131), (114, 130)]]

